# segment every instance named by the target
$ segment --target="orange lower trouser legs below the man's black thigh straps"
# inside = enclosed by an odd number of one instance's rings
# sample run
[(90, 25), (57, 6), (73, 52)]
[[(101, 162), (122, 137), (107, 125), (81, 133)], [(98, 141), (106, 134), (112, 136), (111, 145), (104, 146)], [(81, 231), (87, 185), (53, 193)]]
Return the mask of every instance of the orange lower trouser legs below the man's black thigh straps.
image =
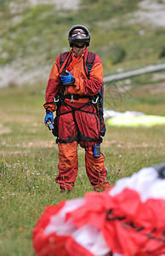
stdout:
[[(61, 190), (72, 190), (77, 178), (78, 157), (77, 141), (72, 143), (58, 143), (59, 145), (59, 175), (56, 183), (60, 183)], [(88, 179), (94, 190), (110, 189), (111, 185), (105, 180), (105, 158), (101, 154), (99, 158), (94, 158), (93, 151), (85, 151), (85, 166)]]

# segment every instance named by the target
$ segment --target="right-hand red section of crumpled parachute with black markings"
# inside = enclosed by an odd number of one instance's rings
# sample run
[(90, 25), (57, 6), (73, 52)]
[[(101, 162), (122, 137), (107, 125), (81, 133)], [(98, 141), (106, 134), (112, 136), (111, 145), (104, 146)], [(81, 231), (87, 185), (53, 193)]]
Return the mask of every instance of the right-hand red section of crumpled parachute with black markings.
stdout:
[[(105, 194), (105, 195), (104, 195)], [(80, 229), (84, 224), (97, 226), (112, 252), (123, 255), (162, 255), (165, 253), (165, 201), (141, 203), (130, 189), (107, 201), (107, 192), (88, 193), (86, 206), (67, 214)]]

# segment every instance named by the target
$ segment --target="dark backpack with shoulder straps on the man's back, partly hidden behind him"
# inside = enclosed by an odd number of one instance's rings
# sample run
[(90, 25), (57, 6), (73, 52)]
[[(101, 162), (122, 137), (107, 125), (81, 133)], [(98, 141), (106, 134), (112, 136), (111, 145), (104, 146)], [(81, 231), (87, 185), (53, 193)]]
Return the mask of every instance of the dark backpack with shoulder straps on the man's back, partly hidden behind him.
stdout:
[[(61, 53), (60, 54), (60, 67), (62, 67), (66, 57), (69, 55), (69, 52), (65, 52), (65, 53)], [(88, 55), (87, 55), (87, 60), (85, 61), (85, 59), (83, 58), (83, 68), (85, 71), (85, 74), (87, 76), (87, 78), (89, 79), (89, 75), (90, 75), (90, 71), (93, 67), (94, 64), (94, 60), (95, 60), (95, 56), (96, 54), (92, 51), (88, 51)], [(69, 65), (70, 63), (68, 63)], [(100, 135), (102, 137), (105, 136), (105, 122), (104, 122), (104, 111), (103, 111), (103, 100), (104, 100), (104, 84), (101, 85), (100, 91), (99, 91), (99, 118), (100, 118), (100, 129), (101, 129), (101, 133)]]

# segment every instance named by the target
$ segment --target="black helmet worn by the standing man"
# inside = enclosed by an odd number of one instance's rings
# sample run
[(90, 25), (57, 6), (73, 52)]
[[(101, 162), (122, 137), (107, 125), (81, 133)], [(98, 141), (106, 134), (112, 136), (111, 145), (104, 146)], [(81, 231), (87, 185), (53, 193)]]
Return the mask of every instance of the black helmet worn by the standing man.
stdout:
[[(81, 28), (86, 33), (86, 37), (84, 37), (83, 35), (77, 35), (77, 36), (71, 38), (72, 32), (77, 28)], [(72, 26), (70, 29), (70, 32), (68, 34), (68, 41), (69, 41), (70, 47), (73, 47), (73, 44), (77, 43), (77, 42), (83, 42), (86, 44), (86, 46), (88, 46), (90, 43), (90, 33), (88, 32), (87, 27), (85, 27), (83, 25)]]

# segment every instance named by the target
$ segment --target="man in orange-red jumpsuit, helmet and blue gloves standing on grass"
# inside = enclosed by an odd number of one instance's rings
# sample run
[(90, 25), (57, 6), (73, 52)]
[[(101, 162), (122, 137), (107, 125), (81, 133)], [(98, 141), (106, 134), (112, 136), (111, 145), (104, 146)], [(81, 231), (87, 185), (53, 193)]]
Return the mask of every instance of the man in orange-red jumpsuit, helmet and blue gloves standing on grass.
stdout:
[[(68, 41), (72, 49), (54, 61), (43, 105), (45, 125), (47, 119), (51, 119), (57, 127), (54, 135), (59, 146), (59, 175), (55, 181), (60, 183), (62, 191), (73, 189), (78, 171), (79, 143), (85, 148), (86, 172), (94, 190), (110, 189), (110, 184), (105, 181), (105, 158), (100, 153), (102, 122), (98, 104), (103, 67), (100, 57), (88, 52), (90, 34), (85, 26), (72, 26)], [(89, 53), (93, 63), (88, 68)]]

